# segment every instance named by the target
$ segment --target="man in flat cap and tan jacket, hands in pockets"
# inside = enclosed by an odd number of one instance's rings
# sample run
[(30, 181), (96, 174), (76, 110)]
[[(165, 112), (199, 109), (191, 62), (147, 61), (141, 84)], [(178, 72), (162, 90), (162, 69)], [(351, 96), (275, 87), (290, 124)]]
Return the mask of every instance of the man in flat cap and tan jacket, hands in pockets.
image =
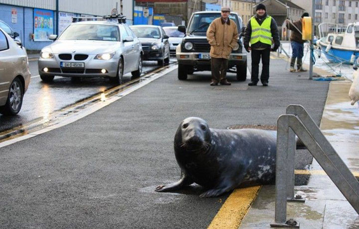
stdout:
[(212, 21), (207, 29), (207, 40), (211, 46), (211, 86), (231, 85), (226, 79), (228, 59), (237, 45), (238, 30), (236, 23), (229, 19), (230, 8), (221, 8), (221, 17)]

